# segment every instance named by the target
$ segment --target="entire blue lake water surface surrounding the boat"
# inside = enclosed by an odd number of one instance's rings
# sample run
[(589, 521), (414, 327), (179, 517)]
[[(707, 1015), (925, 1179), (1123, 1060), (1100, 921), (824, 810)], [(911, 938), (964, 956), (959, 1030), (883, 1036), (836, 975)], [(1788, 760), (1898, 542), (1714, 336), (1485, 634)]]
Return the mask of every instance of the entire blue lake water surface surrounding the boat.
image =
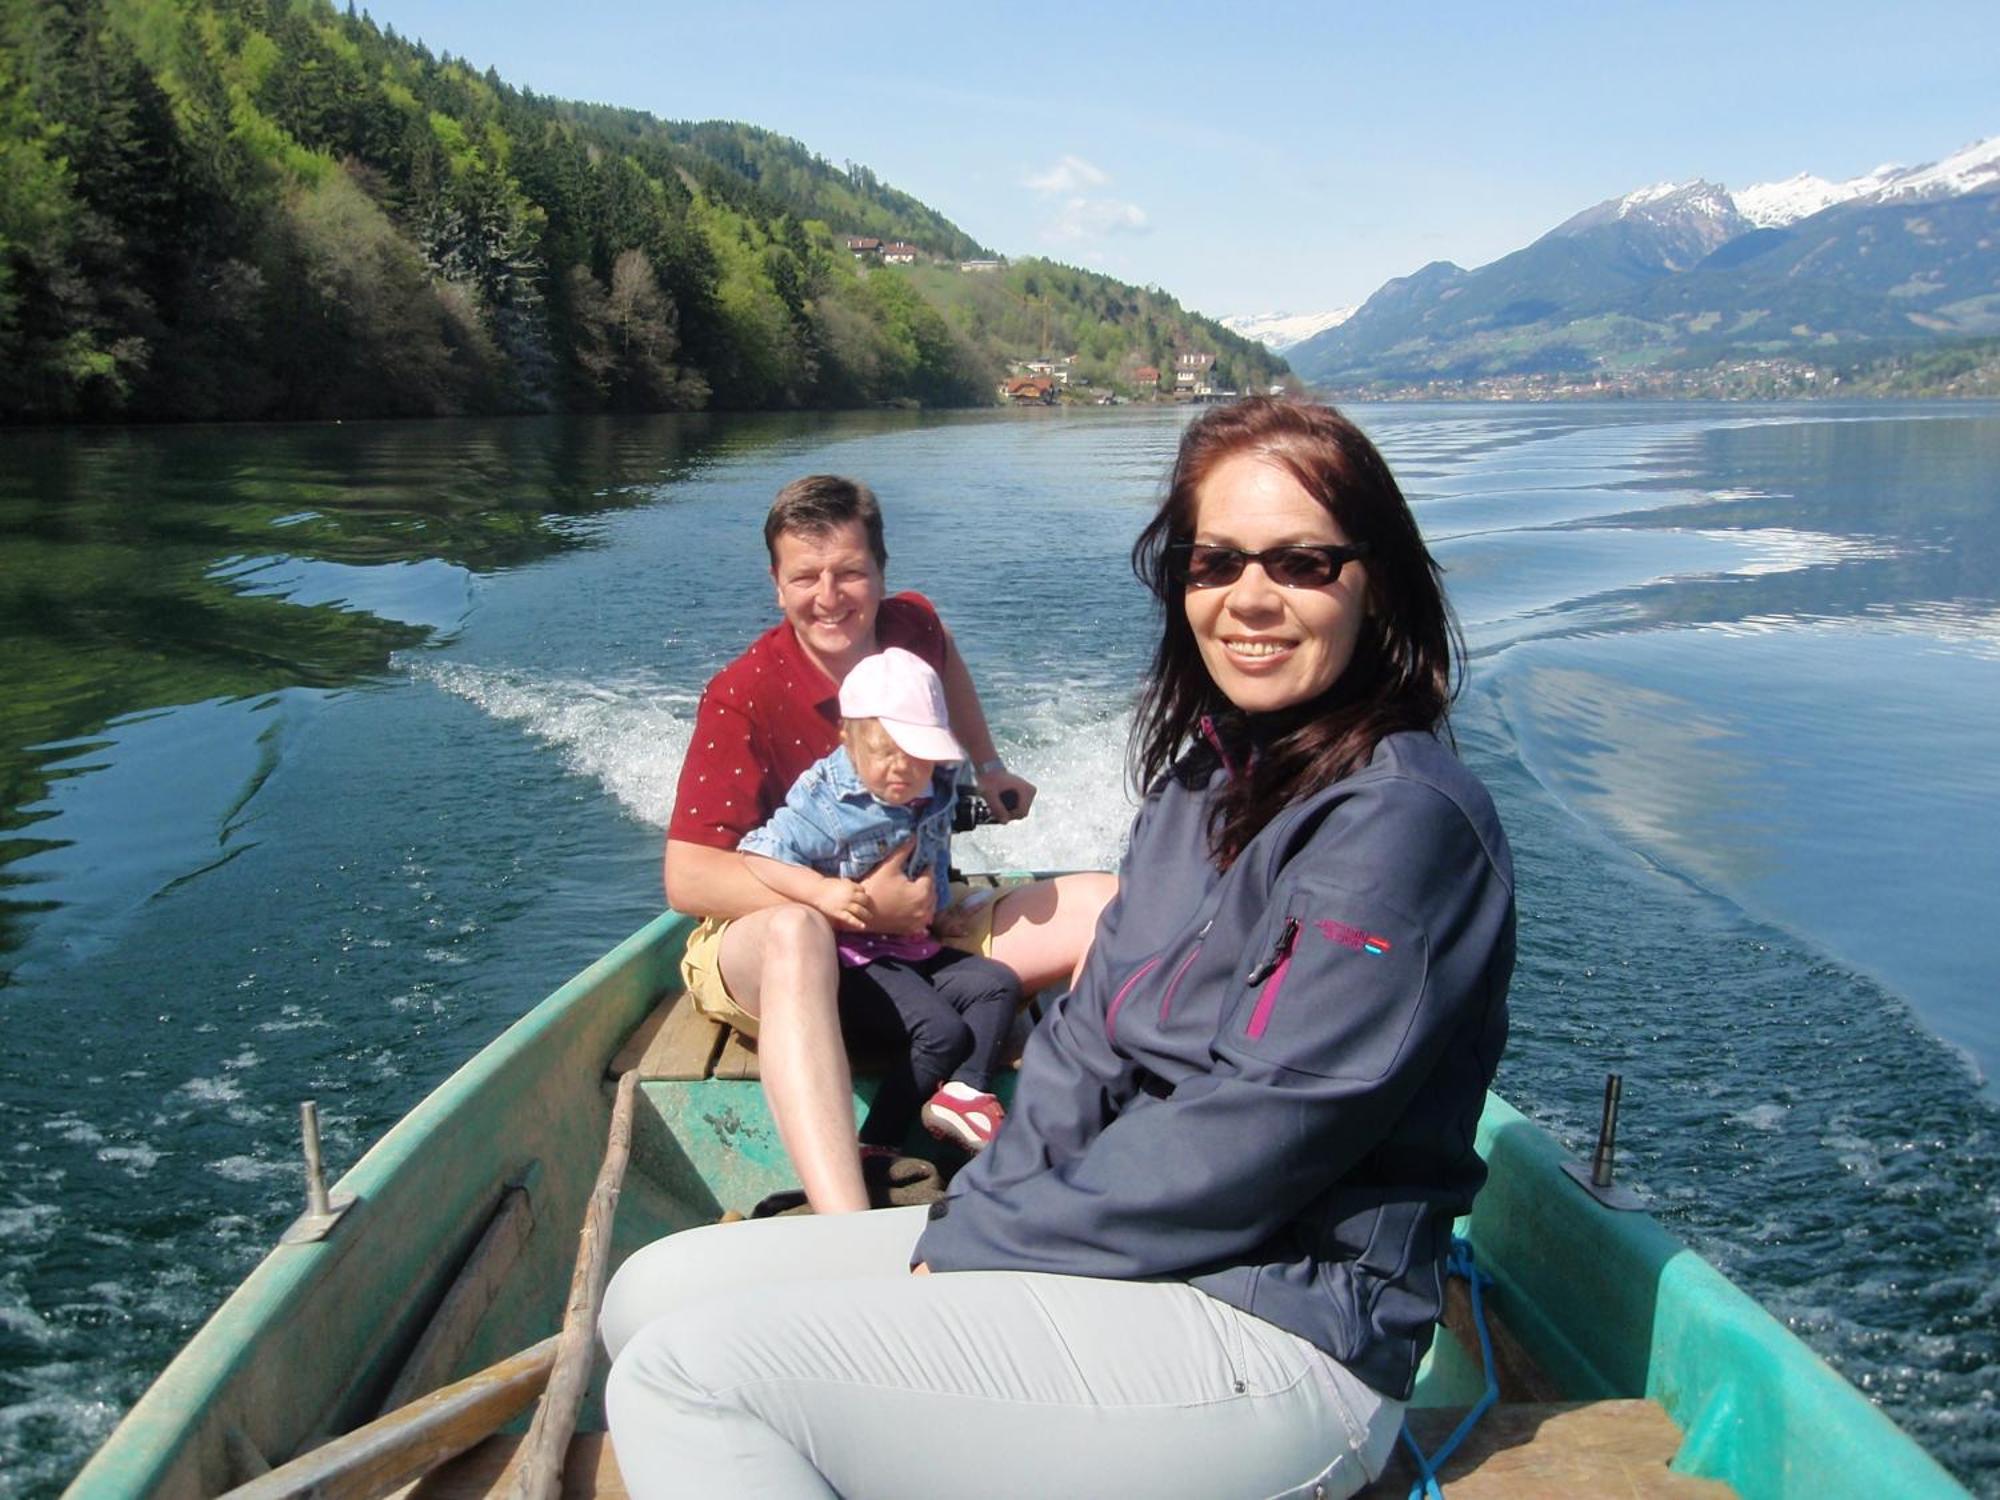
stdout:
[[(2000, 408), (1354, 408), (1520, 866), (1500, 1088), (2000, 1494)], [(1036, 816), (1116, 858), (1174, 412), (0, 438), (0, 1494), (660, 904), (784, 480), (868, 478)]]

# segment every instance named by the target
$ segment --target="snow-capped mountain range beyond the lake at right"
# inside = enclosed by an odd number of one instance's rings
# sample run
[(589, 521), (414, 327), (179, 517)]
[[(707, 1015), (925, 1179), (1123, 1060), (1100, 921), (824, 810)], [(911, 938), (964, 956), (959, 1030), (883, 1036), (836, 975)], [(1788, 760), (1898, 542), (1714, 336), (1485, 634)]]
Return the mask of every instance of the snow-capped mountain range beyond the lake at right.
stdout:
[(1390, 280), (1286, 360), (1328, 382), (1596, 378), (1994, 338), (1996, 246), (2000, 136), (1846, 182), (1658, 182), (1474, 270), (1440, 260)]

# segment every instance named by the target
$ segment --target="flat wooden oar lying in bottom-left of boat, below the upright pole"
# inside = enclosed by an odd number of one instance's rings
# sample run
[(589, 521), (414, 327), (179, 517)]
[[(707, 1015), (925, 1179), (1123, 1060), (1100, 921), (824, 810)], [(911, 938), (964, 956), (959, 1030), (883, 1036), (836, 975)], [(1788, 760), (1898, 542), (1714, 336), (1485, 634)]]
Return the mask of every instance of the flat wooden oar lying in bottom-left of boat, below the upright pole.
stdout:
[(556, 1368), (558, 1338), (544, 1338), (402, 1410), (378, 1416), (290, 1464), (280, 1464), (224, 1500), (372, 1500), (456, 1458), (498, 1432), (542, 1392)]

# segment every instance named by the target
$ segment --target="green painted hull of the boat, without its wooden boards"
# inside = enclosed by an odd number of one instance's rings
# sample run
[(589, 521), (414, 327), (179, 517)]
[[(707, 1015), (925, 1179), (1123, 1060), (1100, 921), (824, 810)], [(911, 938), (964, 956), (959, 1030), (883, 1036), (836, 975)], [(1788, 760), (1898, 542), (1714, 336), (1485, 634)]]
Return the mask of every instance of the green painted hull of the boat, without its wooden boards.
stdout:
[[(132, 1408), (70, 1496), (210, 1496), (376, 1416), (508, 1188), (534, 1228), (506, 1296), (458, 1356), (478, 1370), (556, 1330), (610, 1118), (606, 1062), (678, 988), (672, 912), (556, 990), (416, 1106), (336, 1184), (330, 1238), (276, 1248)], [(794, 1184), (754, 1082), (652, 1082), (634, 1118), (614, 1256)], [(1492, 1096), (1490, 1180), (1468, 1222), (1494, 1306), (1576, 1400), (1650, 1396), (1674, 1468), (1744, 1500), (1966, 1494), (1784, 1326), (1646, 1214), (1598, 1206), (1556, 1142)], [(1478, 1372), (1440, 1338), (1418, 1404)], [(586, 1418), (588, 1420), (588, 1418)]]

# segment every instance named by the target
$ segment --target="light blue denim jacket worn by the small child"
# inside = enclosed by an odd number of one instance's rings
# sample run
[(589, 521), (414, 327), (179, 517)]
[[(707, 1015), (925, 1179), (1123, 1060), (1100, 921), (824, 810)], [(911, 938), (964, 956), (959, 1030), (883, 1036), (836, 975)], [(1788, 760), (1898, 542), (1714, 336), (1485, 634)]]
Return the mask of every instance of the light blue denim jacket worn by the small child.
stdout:
[(938, 874), (938, 910), (950, 900), (952, 802), (958, 764), (944, 762), (930, 776), (930, 792), (902, 808), (878, 802), (836, 746), (814, 760), (784, 794), (784, 806), (770, 822), (752, 828), (736, 846), (740, 854), (762, 854), (786, 864), (802, 864), (820, 874), (860, 880), (894, 848), (916, 834), (916, 848), (904, 870), (914, 878)]

